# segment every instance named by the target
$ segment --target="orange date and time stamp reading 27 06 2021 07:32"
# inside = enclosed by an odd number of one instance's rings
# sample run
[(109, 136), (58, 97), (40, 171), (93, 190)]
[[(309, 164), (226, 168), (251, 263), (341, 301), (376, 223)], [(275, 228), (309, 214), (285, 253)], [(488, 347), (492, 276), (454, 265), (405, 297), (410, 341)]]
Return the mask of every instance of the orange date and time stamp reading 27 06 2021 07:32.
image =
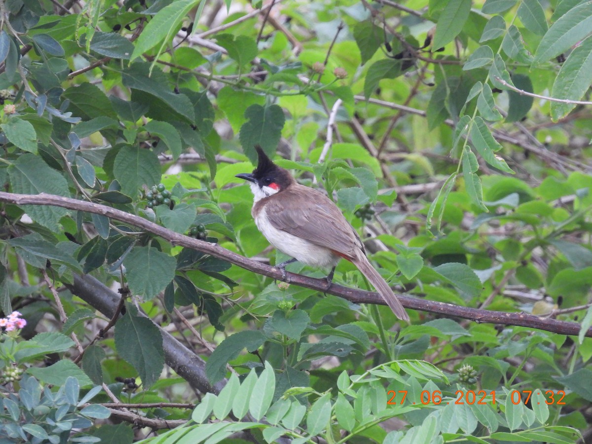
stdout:
[[(532, 396), (532, 390), (512, 390), (508, 394), (509, 401), (514, 404), (527, 404), (530, 401), (530, 397)], [(536, 393), (540, 394), (540, 391), (535, 391)], [(388, 397), (390, 399), (387, 401), (389, 405), (403, 405), (405, 402), (405, 398), (407, 398), (407, 390), (389, 390), (387, 392)], [(525, 396), (525, 399), (523, 399)], [(455, 392), (456, 398), (449, 398), (445, 397), (442, 398), (442, 392), (440, 390), (423, 390), (420, 394), (420, 403), (426, 406), (427, 404), (434, 404), (438, 406), (440, 404), (477, 404), (477, 405), (485, 405), (485, 404), (496, 404), (496, 391), (491, 390), (489, 392), (485, 390), (456, 390)], [(563, 390), (546, 390), (545, 391), (545, 404), (550, 406), (551, 404), (557, 404), (559, 406), (565, 406), (564, 402), (565, 391)], [(410, 401), (407, 401), (408, 403)], [(411, 404), (417, 404), (416, 402), (411, 402)], [(540, 402), (539, 402), (540, 404)]]

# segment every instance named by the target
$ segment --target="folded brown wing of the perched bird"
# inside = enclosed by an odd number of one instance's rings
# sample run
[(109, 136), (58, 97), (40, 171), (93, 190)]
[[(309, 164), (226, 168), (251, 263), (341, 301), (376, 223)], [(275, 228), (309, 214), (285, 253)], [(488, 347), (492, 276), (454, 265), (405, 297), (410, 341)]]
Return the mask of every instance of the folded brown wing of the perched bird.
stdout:
[[(341, 210), (323, 193), (304, 185), (292, 185), (267, 198), (270, 223), (314, 244), (355, 257), (363, 244)], [(287, 206), (284, 202), (291, 202)]]

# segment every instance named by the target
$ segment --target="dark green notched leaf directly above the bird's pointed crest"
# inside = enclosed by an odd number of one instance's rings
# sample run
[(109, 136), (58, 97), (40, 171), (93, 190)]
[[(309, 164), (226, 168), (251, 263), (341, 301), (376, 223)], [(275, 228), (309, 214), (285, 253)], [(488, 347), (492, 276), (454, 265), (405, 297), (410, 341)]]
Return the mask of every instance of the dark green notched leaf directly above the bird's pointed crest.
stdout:
[(240, 127), (239, 140), (251, 163), (257, 163), (256, 145), (262, 147), (268, 156), (273, 157), (285, 123), (282, 108), (278, 105), (251, 105), (244, 112), (244, 117), (248, 121)]

